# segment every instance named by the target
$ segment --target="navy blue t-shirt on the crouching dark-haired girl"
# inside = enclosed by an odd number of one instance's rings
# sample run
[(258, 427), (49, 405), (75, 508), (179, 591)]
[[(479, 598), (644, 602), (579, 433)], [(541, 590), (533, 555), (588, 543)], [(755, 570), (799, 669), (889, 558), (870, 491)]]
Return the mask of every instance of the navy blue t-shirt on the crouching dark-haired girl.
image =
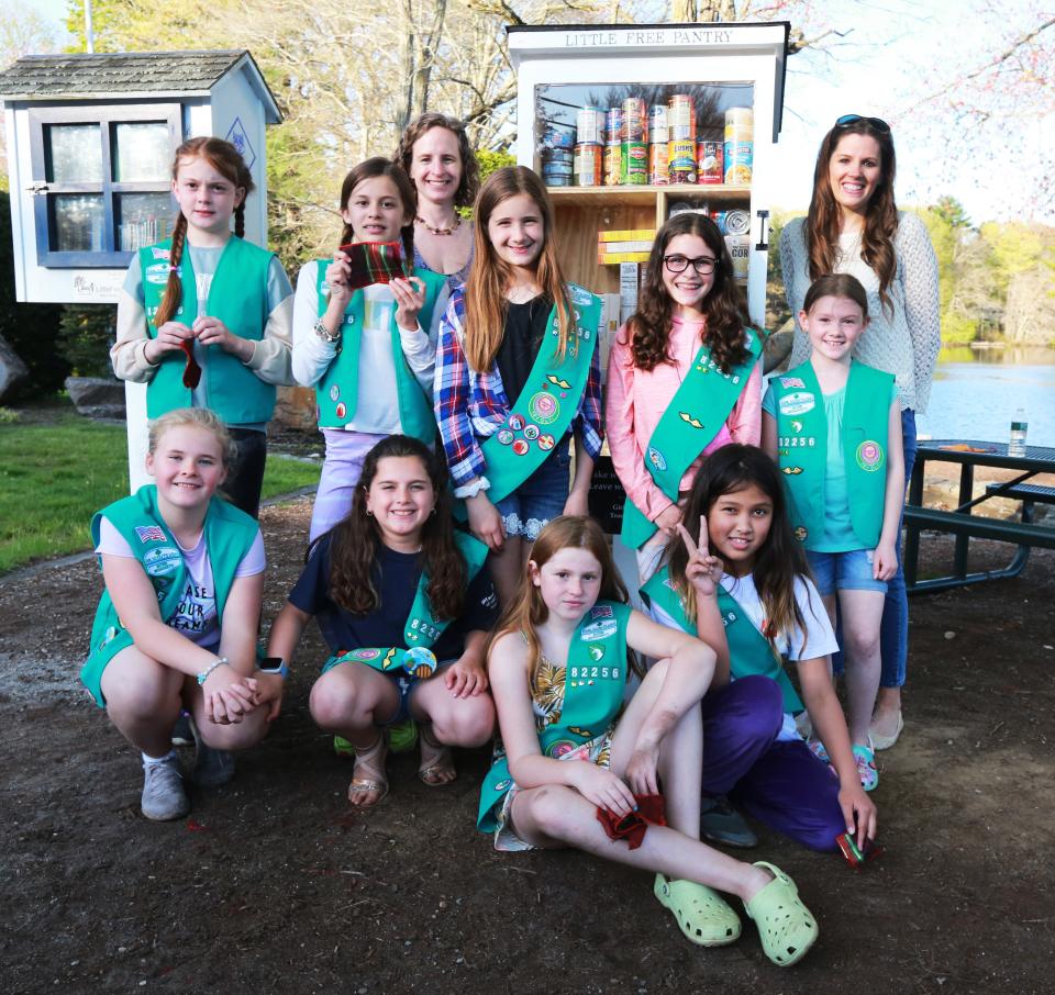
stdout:
[[(353, 615), (330, 600), (330, 540), (323, 536), (311, 552), (300, 580), (289, 592), (293, 607), (314, 615), (323, 638), (333, 652), (365, 646), (398, 646), (407, 649), (403, 626), (410, 615), (418, 580), (421, 577), (420, 554), (397, 552), (381, 546), (374, 564), (374, 590), (380, 599), (378, 607), (367, 615)], [(473, 579), (465, 595), (462, 615), (443, 630), (432, 647), (441, 662), (455, 660), (465, 649), (465, 635), (476, 629), (487, 631), (498, 622), (498, 596), (487, 567)]]

